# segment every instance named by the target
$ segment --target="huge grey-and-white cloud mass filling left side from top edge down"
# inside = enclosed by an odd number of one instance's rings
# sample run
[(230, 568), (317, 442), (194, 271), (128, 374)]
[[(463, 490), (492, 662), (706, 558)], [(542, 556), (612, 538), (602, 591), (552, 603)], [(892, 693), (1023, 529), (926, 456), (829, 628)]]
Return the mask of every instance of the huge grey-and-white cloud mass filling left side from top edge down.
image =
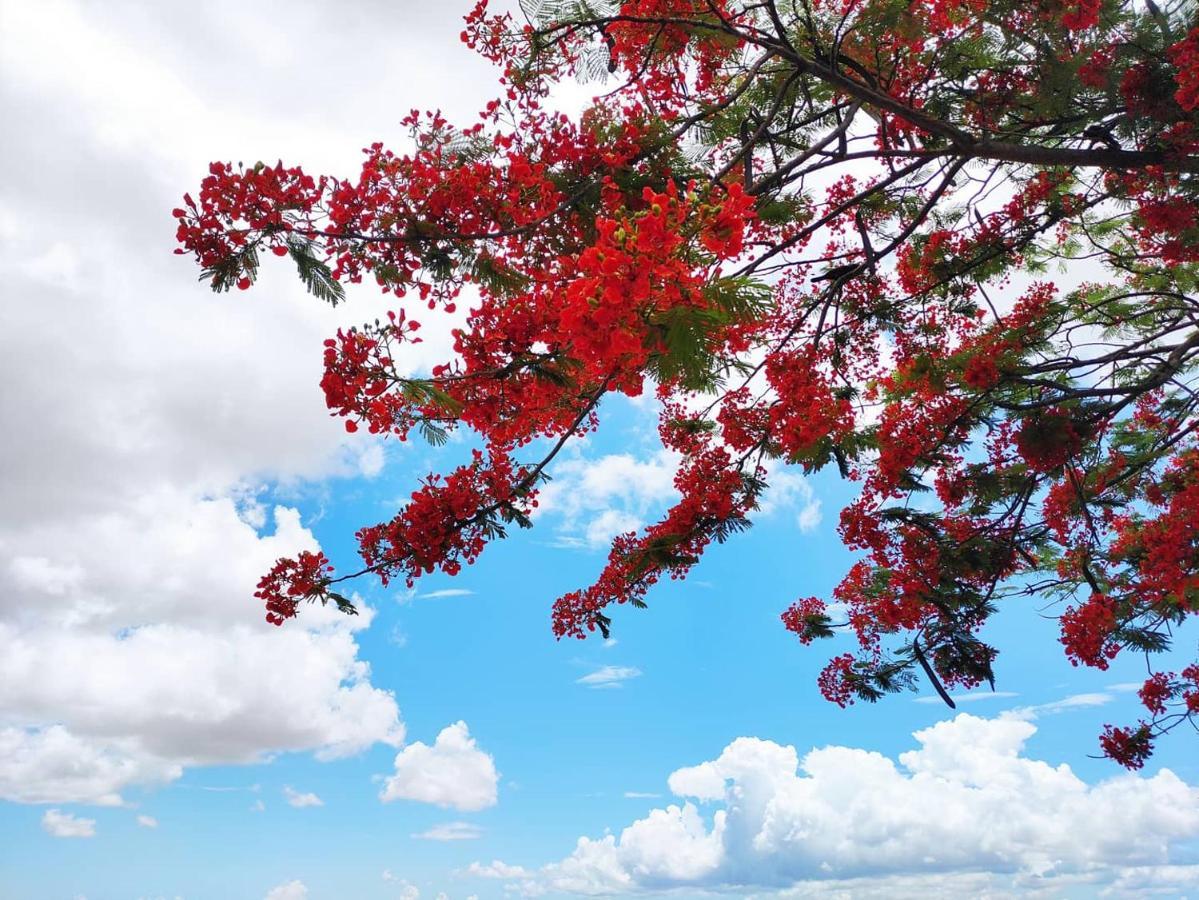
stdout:
[[(272, 523), (260, 487), (382, 466), (314, 388), (320, 342), (374, 297), (332, 309), (284, 265), (252, 295), (213, 295), (171, 255), (169, 211), (211, 159), (287, 149), (349, 173), (363, 129), (394, 133), (394, 107), (343, 79), (296, 92), (297, 47), (369, 53), (414, 102), (438, 85), (454, 117), (483, 81), (457, 75), (489, 67), (424, 52), (422, 29), (458, 24), (435, 5), (398, 34), (290, 5), (294, 43), (241, 40), (277, 20), (270, 6), (0, 0), (0, 105), (22, 135), (0, 145), (22, 173), (0, 193), (0, 417), (19, 430), (0, 441), (0, 797), (114, 804), (185, 766), (402, 741), (359, 654), (364, 621), (308, 610), (276, 632), (252, 599), (277, 556), (315, 549), (294, 511)], [(273, 77), (247, 87), (246, 71)], [(424, 326), (406, 367), (446, 354), (453, 322)]]

